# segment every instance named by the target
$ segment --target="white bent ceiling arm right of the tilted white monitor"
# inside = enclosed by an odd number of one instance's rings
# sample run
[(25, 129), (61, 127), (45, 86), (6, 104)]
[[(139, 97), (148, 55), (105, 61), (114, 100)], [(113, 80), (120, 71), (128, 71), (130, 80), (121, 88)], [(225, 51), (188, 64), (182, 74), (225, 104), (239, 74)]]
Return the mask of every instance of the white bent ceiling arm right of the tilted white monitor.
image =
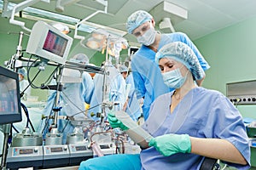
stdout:
[(80, 40), (84, 40), (83, 36), (79, 36), (78, 35), (78, 30), (79, 30), (79, 25), (82, 24), (84, 21), (89, 20), (91, 17), (93, 17), (96, 14), (99, 13), (104, 13), (104, 14), (108, 14), (108, 1), (105, 0), (96, 0), (97, 3), (102, 3), (102, 5), (105, 7), (104, 11), (102, 10), (97, 10), (96, 12), (94, 12), (93, 14), (90, 14), (89, 16), (87, 16), (86, 18), (84, 18), (84, 20), (80, 20), (79, 23), (76, 24), (75, 26), (75, 31), (74, 31), (74, 38), (76, 39), (80, 39)]

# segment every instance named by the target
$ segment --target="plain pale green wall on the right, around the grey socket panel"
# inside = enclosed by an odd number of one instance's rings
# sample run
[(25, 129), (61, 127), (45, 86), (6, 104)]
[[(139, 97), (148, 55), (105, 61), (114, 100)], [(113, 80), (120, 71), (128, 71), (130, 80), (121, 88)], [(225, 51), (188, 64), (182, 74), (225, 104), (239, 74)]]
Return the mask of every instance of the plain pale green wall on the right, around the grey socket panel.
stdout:
[[(211, 68), (203, 86), (226, 93), (226, 83), (256, 80), (256, 17), (195, 40)], [(255, 87), (256, 88), (256, 87)], [(256, 118), (256, 105), (238, 105), (244, 117)]]

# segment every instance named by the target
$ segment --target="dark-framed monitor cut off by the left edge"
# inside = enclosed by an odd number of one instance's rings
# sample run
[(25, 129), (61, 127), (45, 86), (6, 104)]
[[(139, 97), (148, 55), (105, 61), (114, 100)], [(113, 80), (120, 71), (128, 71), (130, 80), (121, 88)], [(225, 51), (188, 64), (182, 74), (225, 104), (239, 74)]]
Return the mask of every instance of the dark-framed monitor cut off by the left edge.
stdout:
[(21, 119), (19, 76), (0, 66), (0, 124)]

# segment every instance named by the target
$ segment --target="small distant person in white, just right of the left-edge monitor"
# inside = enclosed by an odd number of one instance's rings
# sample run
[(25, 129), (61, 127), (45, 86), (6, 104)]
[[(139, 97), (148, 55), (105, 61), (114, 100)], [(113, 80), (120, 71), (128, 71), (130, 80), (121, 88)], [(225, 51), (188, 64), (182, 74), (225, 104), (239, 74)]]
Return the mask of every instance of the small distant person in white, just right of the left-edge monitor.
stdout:
[(29, 86), (29, 82), (25, 79), (26, 69), (24, 67), (18, 69), (18, 74), (20, 83), (20, 95), (22, 95), (21, 99), (26, 101), (27, 97), (31, 95), (31, 87)]

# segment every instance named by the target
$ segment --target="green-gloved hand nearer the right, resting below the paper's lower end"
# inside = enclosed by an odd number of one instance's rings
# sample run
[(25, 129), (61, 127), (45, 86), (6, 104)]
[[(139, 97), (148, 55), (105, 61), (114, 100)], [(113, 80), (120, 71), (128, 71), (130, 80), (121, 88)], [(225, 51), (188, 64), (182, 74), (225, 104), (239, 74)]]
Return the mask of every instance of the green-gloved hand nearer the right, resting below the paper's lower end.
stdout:
[(163, 156), (172, 156), (172, 154), (179, 152), (191, 152), (191, 142), (188, 134), (165, 134), (151, 139), (148, 145), (154, 146)]

